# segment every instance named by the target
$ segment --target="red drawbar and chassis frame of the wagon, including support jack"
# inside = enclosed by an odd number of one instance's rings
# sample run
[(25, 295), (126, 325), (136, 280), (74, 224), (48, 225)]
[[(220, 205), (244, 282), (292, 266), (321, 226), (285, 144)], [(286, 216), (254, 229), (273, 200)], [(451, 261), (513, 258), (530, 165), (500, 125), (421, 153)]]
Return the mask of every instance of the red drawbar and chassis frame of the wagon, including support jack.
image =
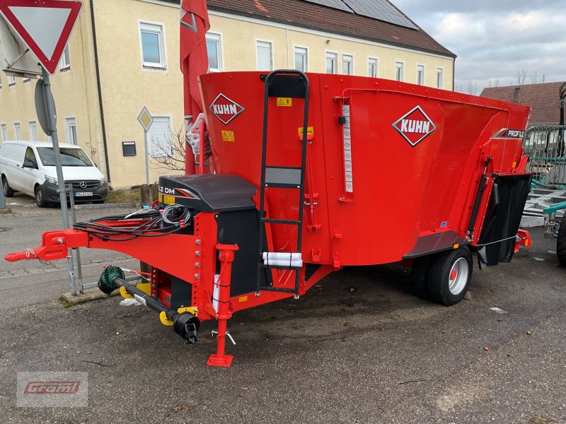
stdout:
[[(151, 264), (152, 298), (163, 305), (171, 307), (171, 276), (175, 276), (192, 285), (190, 306), (200, 321), (217, 319), (218, 333), (216, 353), (213, 353), (207, 365), (229, 367), (232, 356), (224, 353), (226, 325), (233, 312), (256, 307), (265, 303), (275, 302), (292, 296), (291, 293), (261, 291), (260, 295), (248, 293), (230, 297), (231, 263), (238, 254), (237, 245), (221, 245), (216, 240), (217, 228), (215, 215), (217, 213), (200, 212), (195, 216), (195, 234), (168, 234), (161, 237), (137, 237), (133, 240), (103, 240), (96, 235), (81, 230), (55, 230), (44, 232), (42, 245), (36, 249), (7, 254), (6, 261), (21, 261), (24, 259), (42, 259), (53, 261), (67, 258), (68, 249), (88, 247), (90, 249), (110, 249), (122, 252), (140, 261)], [(144, 220), (107, 220), (99, 223), (108, 226), (127, 228), (136, 227)], [(154, 235), (158, 235), (155, 232)], [(116, 239), (127, 236), (115, 236)], [(174, 246), (174, 248), (172, 248)], [(219, 277), (219, 307), (218, 312), (212, 305), (214, 290), (214, 275), (216, 259), (221, 263)], [(304, 269), (301, 269), (301, 285), (299, 294), (337, 269), (330, 265), (322, 265), (305, 281)], [(293, 273), (289, 270), (272, 270), (274, 287), (294, 288)]]

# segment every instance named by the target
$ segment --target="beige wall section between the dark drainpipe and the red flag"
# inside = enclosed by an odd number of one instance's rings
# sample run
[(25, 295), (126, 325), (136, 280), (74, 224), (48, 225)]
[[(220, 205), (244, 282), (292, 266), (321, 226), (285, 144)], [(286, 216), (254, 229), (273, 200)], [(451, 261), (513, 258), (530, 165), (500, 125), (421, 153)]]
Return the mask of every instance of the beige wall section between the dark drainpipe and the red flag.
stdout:
[[(148, 1), (97, 0), (98, 64), (113, 187), (146, 182), (144, 130), (137, 121), (147, 107), (171, 117), (171, 131), (183, 129), (183, 74), (179, 65), (178, 7)], [(162, 25), (166, 69), (142, 66), (140, 22)], [(135, 141), (137, 155), (122, 155), (122, 142)], [(167, 170), (149, 159), (149, 181)], [(171, 172), (169, 172), (171, 173)], [(175, 172), (173, 172), (175, 173)], [(178, 173), (178, 172), (176, 172)]]

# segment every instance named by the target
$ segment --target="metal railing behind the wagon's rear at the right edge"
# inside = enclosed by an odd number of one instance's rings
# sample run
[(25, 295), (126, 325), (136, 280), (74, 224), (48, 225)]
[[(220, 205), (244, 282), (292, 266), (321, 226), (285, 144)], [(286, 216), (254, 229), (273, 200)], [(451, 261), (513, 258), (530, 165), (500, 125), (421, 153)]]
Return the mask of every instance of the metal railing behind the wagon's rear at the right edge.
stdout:
[(526, 131), (524, 151), (529, 155), (527, 171), (545, 187), (566, 188), (566, 126), (537, 125)]

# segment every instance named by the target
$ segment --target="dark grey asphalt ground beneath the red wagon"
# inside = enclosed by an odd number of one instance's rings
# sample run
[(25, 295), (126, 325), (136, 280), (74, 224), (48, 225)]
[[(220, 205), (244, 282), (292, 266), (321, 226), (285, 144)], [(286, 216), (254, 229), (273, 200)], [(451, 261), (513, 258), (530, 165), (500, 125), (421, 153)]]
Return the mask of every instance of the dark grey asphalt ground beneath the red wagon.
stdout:
[[(0, 232), (1, 254), (59, 218), (13, 219), (0, 216), (13, 227)], [(239, 312), (229, 369), (205, 365), (212, 322), (186, 346), (118, 298), (63, 308), (64, 270), (2, 263), (2, 422), (566, 423), (566, 268), (554, 240), (531, 234), (511, 264), (476, 268), (472, 299), (454, 307), (413, 297), (407, 269), (369, 266)], [(16, 407), (25, 371), (88, 372), (88, 407)]]

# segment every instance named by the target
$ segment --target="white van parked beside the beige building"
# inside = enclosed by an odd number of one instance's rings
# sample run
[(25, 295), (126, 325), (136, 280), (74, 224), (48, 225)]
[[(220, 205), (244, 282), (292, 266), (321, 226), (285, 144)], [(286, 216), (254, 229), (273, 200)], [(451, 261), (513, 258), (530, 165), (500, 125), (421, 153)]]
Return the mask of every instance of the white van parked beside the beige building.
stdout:
[[(60, 143), (63, 177), (73, 184), (76, 202), (103, 203), (108, 194), (104, 176), (83, 149)], [(42, 141), (4, 141), (0, 146), (0, 178), (4, 196), (14, 192), (33, 196), (37, 206), (59, 203), (59, 185), (51, 143)]]

